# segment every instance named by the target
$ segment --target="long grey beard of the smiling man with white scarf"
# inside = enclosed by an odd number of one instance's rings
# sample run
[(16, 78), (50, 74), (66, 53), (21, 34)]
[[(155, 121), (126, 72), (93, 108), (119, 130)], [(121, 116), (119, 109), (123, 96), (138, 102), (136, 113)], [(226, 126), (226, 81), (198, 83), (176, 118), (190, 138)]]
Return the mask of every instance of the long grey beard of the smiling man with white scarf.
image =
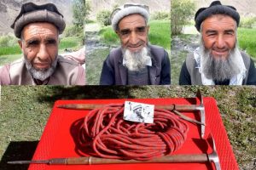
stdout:
[(215, 81), (230, 80), (231, 77), (236, 76), (240, 73), (241, 65), (238, 61), (238, 57), (241, 57), (240, 51), (237, 47), (230, 50), (230, 54), (225, 59), (224, 56), (218, 56), (214, 58), (210, 51), (201, 46), (203, 50), (201, 54), (202, 59), (202, 72), (208, 79)]

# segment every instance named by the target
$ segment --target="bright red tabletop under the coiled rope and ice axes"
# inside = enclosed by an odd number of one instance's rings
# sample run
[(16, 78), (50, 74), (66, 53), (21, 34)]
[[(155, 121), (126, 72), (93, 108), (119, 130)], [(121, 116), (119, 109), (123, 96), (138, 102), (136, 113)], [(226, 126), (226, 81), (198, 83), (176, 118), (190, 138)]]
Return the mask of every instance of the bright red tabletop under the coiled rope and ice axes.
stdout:
[[(59, 109), (57, 105), (63, 104), (110, 104), (110, 103), (124, 103), (125, 100), (137, 101), (153, 105), (191, 105), (199, 104), (197, 99), (90, 99), (90, 100), (58, 100), (55, 102), (53, 111), (49, 116), (49, 121), (44, 128), (44, 133), (35, 151), (33, 160), (44, 160), (51, 158), (62, 157), (79, 157), (75, 151), (75, 144), (72, 137), (73, 122), (84, 117), (88, 111), (74, 111)], [(238, 169), (236, 158), (231, 149), (227, 133), (224, 129), (221, 116), (218, 112), (216, 101), (213, 98), (204, 98), (204, 105), (206, 110), (206, 135), (212, 133), (215, 140), (220, 165), (222, 170)], [(195, 118), (200, 121), (199, 112), (184, 112), (186, 116)], [(188, 122), (189, 133), (188, 139), (183, 144), (180, 150), (173, 154), (200, 154), (211, 153), (212, 148), (207, 144), (206, 139), (201, 139), (201, 128)], [(50, 170), (50, 169), (113, 169), (113, 170), (128, 170), (128, 169), (189, 169), (189, 170), (205, 170), (215, 169), (210, 163), (142, 163), (142, 164), (115, 164), (115, 165), (45, 165), (45, 164), (31, 164), (29, 170)]]

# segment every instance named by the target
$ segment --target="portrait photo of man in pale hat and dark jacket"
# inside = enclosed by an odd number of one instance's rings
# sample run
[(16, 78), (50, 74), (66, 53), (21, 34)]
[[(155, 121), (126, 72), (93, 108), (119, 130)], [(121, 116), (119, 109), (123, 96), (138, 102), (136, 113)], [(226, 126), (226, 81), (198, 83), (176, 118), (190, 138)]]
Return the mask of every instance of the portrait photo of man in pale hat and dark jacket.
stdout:
[(170, 1), (99, 2), (85, 21), (88, 84), (171, 84)]

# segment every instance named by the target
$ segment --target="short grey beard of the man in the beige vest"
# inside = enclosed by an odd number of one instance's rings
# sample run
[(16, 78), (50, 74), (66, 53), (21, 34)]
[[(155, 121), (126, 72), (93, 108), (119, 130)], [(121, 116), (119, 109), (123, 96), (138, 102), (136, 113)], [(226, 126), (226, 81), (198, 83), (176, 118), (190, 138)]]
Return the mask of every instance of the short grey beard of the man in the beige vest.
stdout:
[(44, 70), (36, 70), (35, 68), (33, 68), (32, 64), (26, 59), (26, 56), (24, 56), (24, 59), (26, 63), (26, 69), (27, 71), (29, 71), (32, 78), (40, 81), (44, 81), (55, 72), (58, 56), (56, 56), (54, 62), (52, 63), (52, 65), (50, 65), (49, 69), (44, 69)]

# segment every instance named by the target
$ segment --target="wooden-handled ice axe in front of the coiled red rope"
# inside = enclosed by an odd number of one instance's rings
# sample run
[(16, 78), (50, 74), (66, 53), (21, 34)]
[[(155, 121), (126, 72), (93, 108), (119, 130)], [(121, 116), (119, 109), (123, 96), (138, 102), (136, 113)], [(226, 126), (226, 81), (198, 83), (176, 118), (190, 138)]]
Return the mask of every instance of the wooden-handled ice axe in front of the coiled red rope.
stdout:
[(157, 157), (148, 161), (136, 160), (118, 160), (106, 159), (99, 157), (70, 157), (70, 158), (55, 158), (49, 160), (32, 160), (32, 161), (8, 161), (9, 164), (49, 164), (49, 165), (96, 165), (96, 164), (131, 164), (131, 163), (206, 163), (214, 164), (216, 170), (221, 170), (218, 153), (216, 150), (214, 139), (210, 135), (212, 142), (212, 153), (210, 154), (179, 154), (172, 156)]

